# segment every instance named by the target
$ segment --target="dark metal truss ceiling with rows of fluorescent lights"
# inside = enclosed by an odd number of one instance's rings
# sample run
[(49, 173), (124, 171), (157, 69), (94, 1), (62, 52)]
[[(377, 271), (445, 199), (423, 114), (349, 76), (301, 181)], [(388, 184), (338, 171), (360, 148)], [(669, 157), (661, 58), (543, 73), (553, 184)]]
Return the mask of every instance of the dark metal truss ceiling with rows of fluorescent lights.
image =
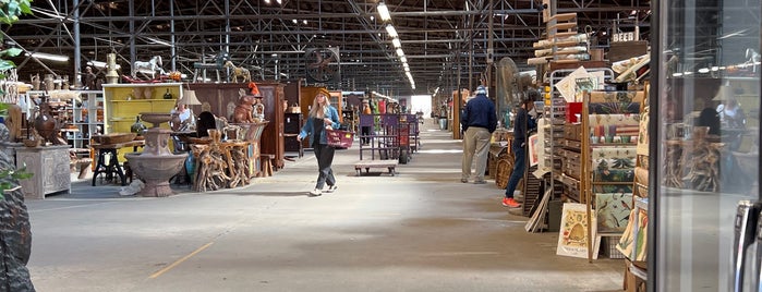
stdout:
[[(214, 62), (227, 51), (255, 81), (286, 82), (305, 76), (306, 49), (338, 47), (341, 82), (328, 87), (390, 95), (468, 84), (474, 77), (469, 72), (486, 71), (491, 32), (495, 61), (508, 57), (525, 64), (534, 53), (532, 42), (545, 32), (542, 0), (387, 0), (416, 83), (413, 90), (376, 12), (379, 1), (269, 2), (35, 1), (34, 15), (4, 31), (7, 45), (74, 57), (65, 65), (19, 58), (21, 76), (45, 71), (75, 75), (87, 61), (105, 61), (109, 52), (118, 54), (122, 68), (160, 54), (165, 70), (193, 75), (194, 62)], [(632, 31), (636, 23), (648, 39), (648, 0), (558, 0), (556, 7), (557, 13), (577, 12), (580, 31), (590, 26), (600, 46), (607, 45), (614, 27)]]

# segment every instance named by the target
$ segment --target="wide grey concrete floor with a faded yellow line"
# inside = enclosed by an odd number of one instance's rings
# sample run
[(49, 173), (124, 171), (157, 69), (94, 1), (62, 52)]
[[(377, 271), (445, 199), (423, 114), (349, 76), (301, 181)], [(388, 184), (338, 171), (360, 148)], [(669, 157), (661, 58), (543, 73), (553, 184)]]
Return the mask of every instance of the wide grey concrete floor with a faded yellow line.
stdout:
[[(338, 150), (338, 191), (307, 197), (312, 153), (246, 186), (120, 197), (75, 182), (27, 200), (38, 291), (621, 291), (624, 260), (556, 255), (528, 233), (494, 181), (460, 183), (459, 141), (427, 120), (396, 177), (354, 177)], [(355, 143), (356, 147), (356, 143)]]

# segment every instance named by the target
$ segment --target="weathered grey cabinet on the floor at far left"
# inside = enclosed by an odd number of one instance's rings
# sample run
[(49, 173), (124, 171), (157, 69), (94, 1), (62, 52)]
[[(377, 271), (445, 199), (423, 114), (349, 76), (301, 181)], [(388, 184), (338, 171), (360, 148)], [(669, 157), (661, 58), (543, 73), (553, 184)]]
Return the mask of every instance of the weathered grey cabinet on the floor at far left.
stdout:
[(15, 150), (16, 168), (26, 166), (26, 170), (34, 173), (32, 178), (19, 181), (24, 197), (45, 198), (48, 194), (69, 192), (69, 145), (17, 147)]

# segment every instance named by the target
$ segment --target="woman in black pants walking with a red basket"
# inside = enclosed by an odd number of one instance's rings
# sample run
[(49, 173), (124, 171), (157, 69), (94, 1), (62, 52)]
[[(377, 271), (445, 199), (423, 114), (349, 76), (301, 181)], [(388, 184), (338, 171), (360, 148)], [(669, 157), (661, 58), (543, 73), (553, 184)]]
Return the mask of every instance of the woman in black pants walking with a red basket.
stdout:
[(315, 190), (310, 192), (312, 196), (322, 195), (323, 186), (326, 183), (328, 184), (326, 193), (336, 191), (336, 178), (334, 178), (334, 170), (330, 168), (331, 163), (334, 163), (335, 149), (328, 145), (326, 130), (339, 129), (340, 123), (339, 111), (330, 106), (328, 96), (328, 90), (320, 88), (312, 102), (306, 122), (297, 136), (297, 141), (300, 143), (304, 137), (310, 136), (310, 145), (315, 151), (315, 158), (317, 158), (318, 174)]

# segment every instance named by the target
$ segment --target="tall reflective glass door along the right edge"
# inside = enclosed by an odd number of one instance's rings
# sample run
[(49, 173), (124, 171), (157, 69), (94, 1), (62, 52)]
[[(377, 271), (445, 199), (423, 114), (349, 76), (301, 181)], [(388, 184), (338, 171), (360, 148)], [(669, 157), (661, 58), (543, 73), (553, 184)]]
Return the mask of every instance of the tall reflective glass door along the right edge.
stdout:
[(760, 0), (652, 7), (649, 289), (760, 291)]

